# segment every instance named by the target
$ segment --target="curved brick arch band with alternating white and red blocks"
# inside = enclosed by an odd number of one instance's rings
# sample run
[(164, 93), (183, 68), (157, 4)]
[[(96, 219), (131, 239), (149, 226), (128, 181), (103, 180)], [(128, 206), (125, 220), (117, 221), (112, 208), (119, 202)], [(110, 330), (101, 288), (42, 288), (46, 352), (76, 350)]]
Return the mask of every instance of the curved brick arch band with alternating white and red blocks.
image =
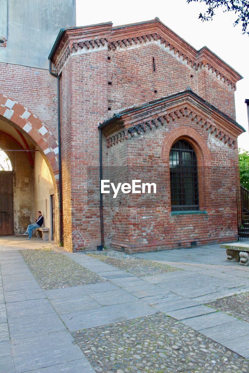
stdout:
[(58, 185), (58, 142), (42, 121), (20, 103), (0, 93), (0, 117), (1, 116), (3, 119), (5, 118), (13, 122), (21, 131), (27, 133), (31, 140), (39, 147), (50, 169), (52, 178), (55, 184)]

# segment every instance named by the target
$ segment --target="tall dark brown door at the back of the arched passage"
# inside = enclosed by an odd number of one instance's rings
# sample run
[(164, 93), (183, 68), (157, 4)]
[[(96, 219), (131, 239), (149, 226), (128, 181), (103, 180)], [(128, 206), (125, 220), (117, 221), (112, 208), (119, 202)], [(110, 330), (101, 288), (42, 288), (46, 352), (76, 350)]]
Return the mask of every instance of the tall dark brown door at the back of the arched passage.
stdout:
[(13, 235), (13, 172), (0, 171), (0, 236)]

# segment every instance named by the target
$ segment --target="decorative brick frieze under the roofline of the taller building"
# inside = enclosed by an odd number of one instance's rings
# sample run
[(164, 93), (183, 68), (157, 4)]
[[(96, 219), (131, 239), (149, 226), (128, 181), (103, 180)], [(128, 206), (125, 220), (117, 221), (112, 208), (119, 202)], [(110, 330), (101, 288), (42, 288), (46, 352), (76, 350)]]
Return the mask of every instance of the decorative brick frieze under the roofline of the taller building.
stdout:
[[(127, 26), (127, 30), (128, 29), (129, 26)], [(186, 45), (179, 43), (179, 37), (172, 37), (173, 32), (171, 30), (171, 32), (168, 32), (169, 29), (167, 29), (167, 27), (161, 22), (160, 27), (157, 29), (159, 32), (148, 32), (138, 35), (133, 34), (132, 36), (129, 35), (128, 37), (126, 37), (127, 32), (124, 32), (124, 37), (117, 39), (116, 37), (119, 36), (120, 33), (116, 34), (114, 28), (113, 30), (110, 30), (110, 34), (106, 37), (96, 37), (93, 39), (84, 38), (83, 40), (77, 41), (70, 40), (69, 45), (65, 47), (62, 56), (56, 63), (56, 72), (61, 72), (66, 60), (74, 52), (77, 52), (79, 48), (92, 52), (94, 50), (98, 50), (100, 47), (107, 47), (109, 51), (115, 51), (119, 48), (130, 48), (139, 46), (141, 44), (157, 42), (160, 47), (164, 47), (168, 53), (172, 54), (185, 65), (187, 64), (190, 66), (190, 68), (193, 70), (205, 68), (209, 73), (215, 75), (217, 79), (219, 79), (223, 84), (227, 85), (231, 90), (236, 90), (236, 82), (241, 79), (239, 73), (235, 72), (235, 70), (231, 69), (230, 66), (226, 65), (207, 47), (201, 48), (199, 51), (197, 51), (193, 47), (187, 47), (187, 43), (185, 43)], [(133, 27), (132, 32), (135, 31), (136, 30)], [(160, 34), (160, 32), (162, 34)], [(77, 39), (78, 38), (79, 35), (77, 34)], [(225, 70), (227, 70), (227, 73), (224, 73)]]

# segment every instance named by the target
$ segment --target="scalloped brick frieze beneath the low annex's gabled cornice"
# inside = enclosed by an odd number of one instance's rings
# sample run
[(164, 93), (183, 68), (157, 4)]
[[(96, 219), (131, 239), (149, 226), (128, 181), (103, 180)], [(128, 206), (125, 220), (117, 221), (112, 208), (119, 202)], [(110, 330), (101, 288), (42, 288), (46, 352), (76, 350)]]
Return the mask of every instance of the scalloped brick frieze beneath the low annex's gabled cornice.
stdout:
[(138, 125), (131, 126), (126, 129), (122, 129), (122, 131), (117, 132), (114, 135), (107, 137), (107, 147), (109, 148), (112, 145), (116, 145), (119, 142), (122, 142), (124, 140), (128, 140), (129, 137), (133, 137), (134, 135), (140, 135), (141, 132), (145, 133), (147, 129), (153, 130), (154, 128), (157, 128), (159, 126), (164, 126), (165, 123), (169, 123), (170, 121), (174, 121), (175, 118), (180, 117), (186, 117), (190, 118), (190, 120), (194, 121), (196, 124), (199, 124), (202, 128), (205, 128), (206, 131), (209, 131), (210, 134), (213, 134), (215, 137), (217, 137), (219, 140), (224, 141), (225, 144), (232, 148), (236, 148), (236, 140), (231, 138), (228, 134), (223, 132), (221, 129), (219, 129), (213, 122), (211, 122), (209, 119), (205, 119), (203, 117), (200, 117), (196, 112), (194, 112), (189, 107), (181, 107), (181, 109), (178, 110), (172, 110), (172, 112), (169, 112), (167, 114), (164, 114), (162, 116), (158, 116), (156, 118), (153, 118), (151, 120), (146, 120), (143, 123), (139, 123)]

